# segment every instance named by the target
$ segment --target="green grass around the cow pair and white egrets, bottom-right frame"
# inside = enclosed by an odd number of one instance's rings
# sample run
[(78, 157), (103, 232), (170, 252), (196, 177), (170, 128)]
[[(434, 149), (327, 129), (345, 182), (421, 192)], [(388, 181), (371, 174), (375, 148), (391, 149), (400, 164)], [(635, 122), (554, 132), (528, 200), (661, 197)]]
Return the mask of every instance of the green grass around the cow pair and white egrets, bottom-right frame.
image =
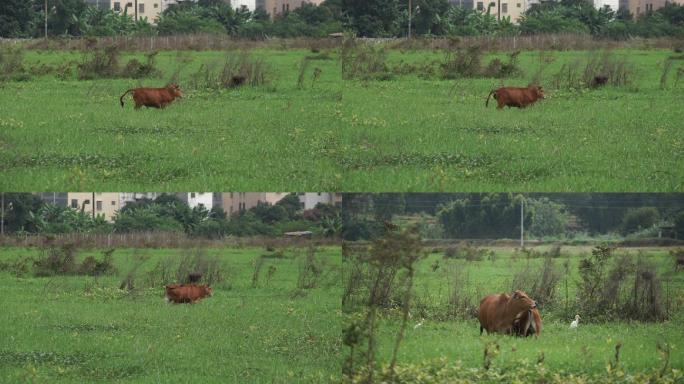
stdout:
[[(414, 283), (412, 318), (398, 355), (400, 364), (419, 364), (446, 358), (446, 361), (452, 364), (460, 361), (464, 369), (481, 368), (485, 346), (495, 342), (500, 346), (500, 353), (492, 360), (492, 367), (496, 369), (506, 370), (524, 362), (534, 367), (538, 357), (543, 353), (544, 366), (551, 373), (564, 371), (575, 375), (601, 375), (605, 373), (609, 361), (614, 359), (615, 345), (621, 342), (621, 368), (627, 374), (635, 374), (662, 367), (663, 362), (656, 345), (659, 342), (666, 342), (672, 348), (670, 367), (679, 370), (684, 368), (684, 272), (674, 273), (674, 264), (667, 249), (650, 248), (640, 251), (645, 258), (654, 262), (659, 272), (664, 273), (669, 280), (667, 289), (670, 300), (676, 303), (673, 304), (673, 308), (676, 308), (673, 309), (670, 320), (662, 323), (605, 323), (592, 321), (591, 317), (584, 315), (577, 331), (572, 331), (569, 325), (575, 313), (563, 315), (563, 277), (557, 287), (556, 308), (540, 309), (543, 327), (538, 339), (488, 335), (486, 332), (480, 336), (479, 322), (476, 318), (467, 316), (467, 319), (445, 319), (441, 316), (445, 312), (444, 308), (452, 292), (457, 271), (460, 271), (458, 276), (466, 281), (466, 288), (461, 291), (462, 295), (471, 296), (472, 302), (477, 305), (484, 295), (510, 291), (513, 275), (522, 270), (525, 264), (542, 264), (540, 258), (514, 260), (514, 253), (510, 248), (491, 249), (498, 256), (494, 261), (446, 260), (441, 254), (431, 254), (420, 261)], [(564, 256), (557, 259), (558, 263), (569, 260), (571, 265), (568, 275), (570, 301), (577, 298), (577, 266), (580, 255), (584, 252), (588, 252), (588, 249), (564, 247)], [(618, 252), (637, 255), (639, 251), (623, 249)], [(433, 267), (435, 263), (439, 265), (436, 270)], [(424, 318), (422, 322), (421, 318)], [(418, 323), (422, 325), (416, 327)], [(400, 324), (401, 315), (398, 310), (396, 313), (385, 312), (382, 316), (378, 337), (380, 362), (389, 363)], [(346, 353), (349, 353), (348, 349)]]

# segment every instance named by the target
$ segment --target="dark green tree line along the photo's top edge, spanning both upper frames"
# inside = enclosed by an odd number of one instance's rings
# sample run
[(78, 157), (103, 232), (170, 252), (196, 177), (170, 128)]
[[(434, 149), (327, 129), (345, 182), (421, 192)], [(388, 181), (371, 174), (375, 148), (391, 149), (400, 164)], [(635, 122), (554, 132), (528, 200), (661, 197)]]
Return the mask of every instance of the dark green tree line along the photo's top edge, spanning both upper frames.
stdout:
[[(0, 2), (0, 37), (30, 38), (45, 34), (43, 0)], [(415, 36), (515, 36), (549, 33), (594, 37), (684, 36), (684, 6), (675, 3), (639, 17), (627, 9), (594, 8), (587, 0), (552, 0), (532, 5), (514, 24), (498, 20), (490, 3), (484, 11), (449, 0), (413, 0)], [(404, 37), (408, 33), (407, 0), (325, 0), (304, 4), (271, 19), (263, 9), (233, 9), (222, 0), (181, 2), (164, 9), (157, 20), (134, 20), (123, 11), (98, 8), (85, 0), (48, 0), (50, 36), (148, 36), (221, 34), (243, 38), (324, 37), (348, 32), (360, 37)], [(155, 24), (152, 22), (156, 21)]]

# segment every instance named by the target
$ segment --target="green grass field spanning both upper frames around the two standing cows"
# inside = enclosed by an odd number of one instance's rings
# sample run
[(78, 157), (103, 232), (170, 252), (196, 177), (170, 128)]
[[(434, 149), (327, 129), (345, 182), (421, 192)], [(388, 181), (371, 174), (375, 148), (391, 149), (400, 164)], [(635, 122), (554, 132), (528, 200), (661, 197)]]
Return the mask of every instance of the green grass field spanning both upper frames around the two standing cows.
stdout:
[[(660, 89), (667, 50), (616, 50), (632, 85), (554, 89), (563, 63), (596, 52), (551, 52), (548, 98), (525, 110), (485, 107), (488, 92), (526, 85), (539, 54), (520, 55), (521, 75), (389, 81), (342, 80), (339, 54), (258, 49), (271, 81), (257, 88), (189, 89), (202, 64), (225, 53), (161, 52), (159, 78), (10, 81), (0, 92), (0, 188), (4, 190), (682, 191), (681, 85)], [(389, 52), (397, 67), (440, 61), (438, 51)], [(501, 55), (499, 55), (501, 57)], [(124, 64), (134, 55), (121, 58)], [(142, 54), (135, 57), (142, 58)], [(483, 63), (492, 58), (486, 55)], [(58, 65), (78, 52), (27, 51), (25, 63)], [(437, 65), (437, 64), (435, 64)], [(681, 66), (675, 61), (672, 73)], [(321, 71), (313, 83), (315, 68)], [(165, 110), (134, 111), (119, 96), (178, 74), (186, 97)]]

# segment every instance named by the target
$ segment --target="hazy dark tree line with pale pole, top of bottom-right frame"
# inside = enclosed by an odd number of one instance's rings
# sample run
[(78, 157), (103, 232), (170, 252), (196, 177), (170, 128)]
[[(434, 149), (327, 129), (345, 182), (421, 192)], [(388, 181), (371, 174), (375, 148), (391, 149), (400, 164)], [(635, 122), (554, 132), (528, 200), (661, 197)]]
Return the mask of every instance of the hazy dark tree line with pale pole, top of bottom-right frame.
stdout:
[(681, 194), (350, 194), (342, 212), (348, 240), (380, 236), (398, 217), (400, 225), (418, 224), (427, 238), (518, 238), (521, 216), (527, 238), (684, 239)]

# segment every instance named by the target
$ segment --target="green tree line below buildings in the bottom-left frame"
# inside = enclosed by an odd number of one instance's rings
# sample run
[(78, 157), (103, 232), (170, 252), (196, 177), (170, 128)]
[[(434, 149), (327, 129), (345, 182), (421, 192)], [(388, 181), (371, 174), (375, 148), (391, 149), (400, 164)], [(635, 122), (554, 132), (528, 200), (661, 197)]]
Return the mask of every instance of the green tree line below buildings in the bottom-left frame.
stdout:
[(177, 232), (216, 239), (224, 236), (281, 236), (285, 232), (311, 231), (334, 237), (341, 232), (340, 208), (319, 203), (304, 210), (290, 194), (276, 204), (260, 202), (248, 210), (228, 215), (222, 208), (189, 207), (175, 195), (129, 202), (111, 222), (89, 210), (46, 203), (30, 193), (4, 196), (4, 232), (7, 234)]

